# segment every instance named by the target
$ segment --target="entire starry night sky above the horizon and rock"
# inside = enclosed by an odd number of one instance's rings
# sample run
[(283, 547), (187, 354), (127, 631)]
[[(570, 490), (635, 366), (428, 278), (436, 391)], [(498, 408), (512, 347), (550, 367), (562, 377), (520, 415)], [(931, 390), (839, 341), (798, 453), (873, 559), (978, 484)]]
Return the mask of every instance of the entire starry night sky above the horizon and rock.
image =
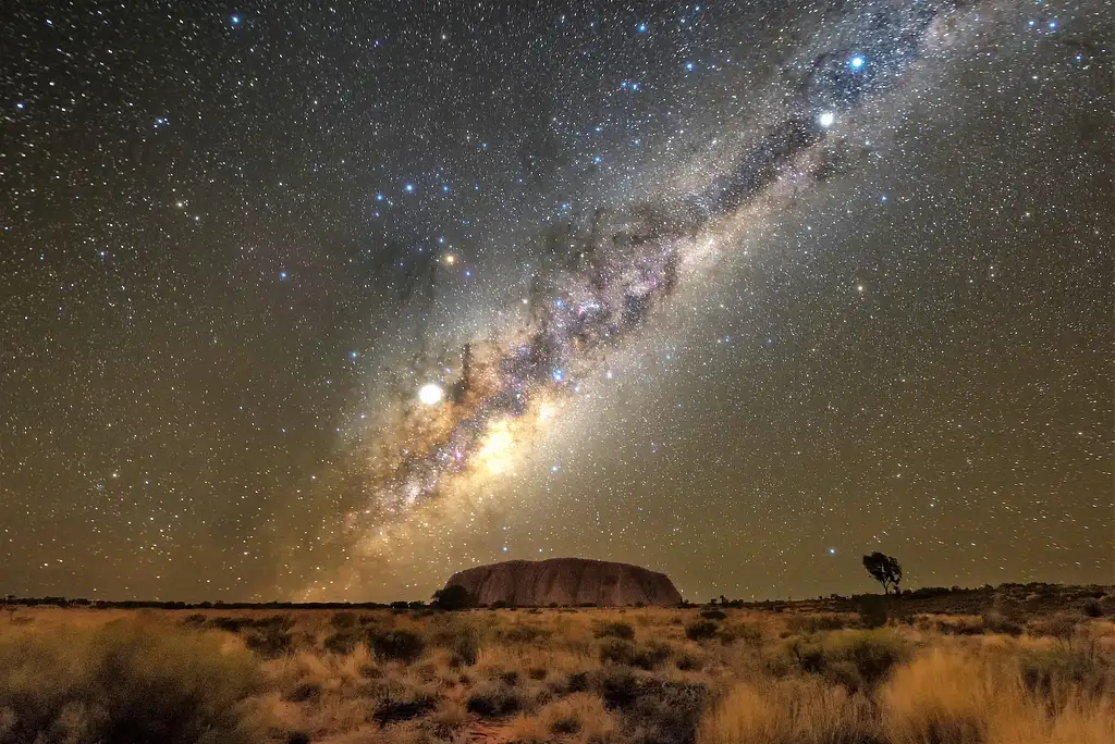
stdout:
[(1106, 3), (0, 13), (0, 594), (1113, 580)]

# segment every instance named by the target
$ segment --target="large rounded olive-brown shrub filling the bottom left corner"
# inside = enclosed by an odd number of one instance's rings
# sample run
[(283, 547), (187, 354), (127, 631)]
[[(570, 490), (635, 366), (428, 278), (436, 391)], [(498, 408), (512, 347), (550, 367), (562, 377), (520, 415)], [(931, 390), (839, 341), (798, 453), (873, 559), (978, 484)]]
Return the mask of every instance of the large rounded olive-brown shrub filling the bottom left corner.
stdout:
[(0, 740), (248, 744), (256, 663), (219, 639), (110, 624), (0, 638)]

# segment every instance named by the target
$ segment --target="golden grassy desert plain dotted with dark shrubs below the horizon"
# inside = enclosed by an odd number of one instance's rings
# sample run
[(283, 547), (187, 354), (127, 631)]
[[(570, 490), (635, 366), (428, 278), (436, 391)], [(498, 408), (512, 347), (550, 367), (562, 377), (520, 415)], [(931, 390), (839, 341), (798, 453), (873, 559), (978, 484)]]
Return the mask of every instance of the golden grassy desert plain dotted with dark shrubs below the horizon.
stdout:
[(1106, 744), (1115, 590), (677, 607), (11, 599), (0, 742)]

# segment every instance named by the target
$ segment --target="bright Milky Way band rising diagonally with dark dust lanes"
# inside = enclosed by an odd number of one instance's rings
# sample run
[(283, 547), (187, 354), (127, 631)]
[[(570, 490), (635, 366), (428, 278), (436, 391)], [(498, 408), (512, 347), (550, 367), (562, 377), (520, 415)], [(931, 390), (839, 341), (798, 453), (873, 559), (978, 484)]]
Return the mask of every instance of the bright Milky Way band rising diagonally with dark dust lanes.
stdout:
[[(411, 550), (429, 550), (420, 535), (429, 540), (475, 513), (485, 479), (503, 474), (515, 450), (556, 415), (556, 403), (669, 305), (688, 264), (712, 245), (730, 252), (738, 217), (746, 222), (748, 207), (779, 184), (801, 192), (846, 175), (855, 154), (834, 134), (841, 120), (885, 96), (928, 46), (940, 56), (953, 25), (979, 23), (971, 8), (953, 2), (867, 3), (828, 16), (826, 32), (805, 41), (768, 84), (788, 98), (784, 118), (747, 133), (727, 163), (702, 164), (711, 174), (687, 189), (571, 216), (547, 246), (546, 271), (532, 274), (525, 323), (466, 342), (456, 364), (419, 372), (428, 382), (418, 404), (378, 421), (370, 447), (352, 456), (356, 482), (348, 487), (362, 496), (331, 538), (341, 545), (340, 578), (336, 566), (319, 568), (304, 596), (348, 596), (369, 578), (384, 580), (388, 564), (405, 572)], [(735, 233), (726, 227), (733, 224)], [(463, 508), (426, 509), (453, 491), (465, 492)]]

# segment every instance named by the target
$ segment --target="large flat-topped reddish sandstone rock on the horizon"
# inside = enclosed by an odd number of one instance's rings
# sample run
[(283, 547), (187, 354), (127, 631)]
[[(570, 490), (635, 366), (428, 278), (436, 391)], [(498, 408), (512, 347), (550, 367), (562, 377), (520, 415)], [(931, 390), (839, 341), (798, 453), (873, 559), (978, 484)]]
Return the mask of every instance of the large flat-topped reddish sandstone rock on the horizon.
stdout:
[(481, 605), (512, 606), (676, 605), (681, 595), (666, 574), (605, 560), (551, 558), (508, 560), (478, 566), (449, 577), (447, 587), (463, 586)]

